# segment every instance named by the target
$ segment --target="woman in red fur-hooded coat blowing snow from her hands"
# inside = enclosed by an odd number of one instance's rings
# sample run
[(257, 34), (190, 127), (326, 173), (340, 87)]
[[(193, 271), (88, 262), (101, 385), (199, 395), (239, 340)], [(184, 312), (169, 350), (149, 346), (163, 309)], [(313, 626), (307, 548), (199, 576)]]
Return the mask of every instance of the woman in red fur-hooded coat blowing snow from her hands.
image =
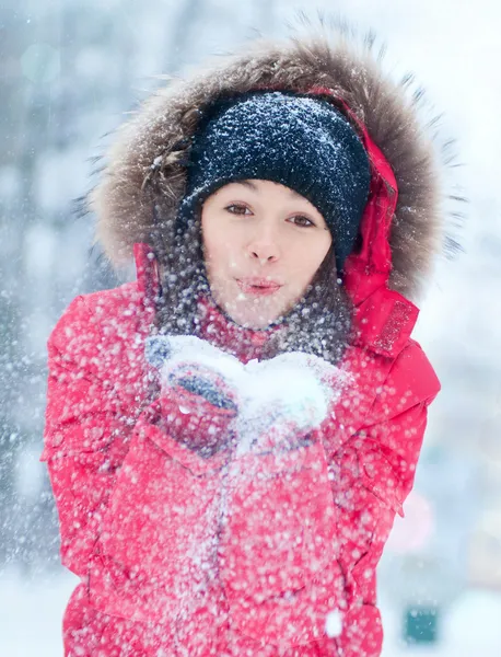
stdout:
[(257, 44), (123, 127), (90, 201), (137, 281), (48, 342), (66, 655), (380, 655), (375, 568), (440, 390), (410, 337), (435, 180), (343, 36)]

